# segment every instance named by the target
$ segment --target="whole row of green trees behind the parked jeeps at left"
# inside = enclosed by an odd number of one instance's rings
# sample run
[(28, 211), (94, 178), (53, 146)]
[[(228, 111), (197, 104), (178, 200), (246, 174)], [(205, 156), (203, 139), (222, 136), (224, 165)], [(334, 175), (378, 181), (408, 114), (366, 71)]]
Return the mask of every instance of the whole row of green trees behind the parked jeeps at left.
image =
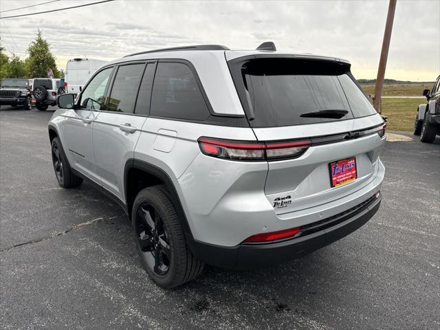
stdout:
[(12, 53), (8, 56), (0, 43), (0, 80), (4, 78), (43, 78), (52, 69), (54, 78), (61, 78), (63, 72), (56, 67), (55, 56), (50, 51), (50, 43), (43, 39), (43, 32), (38, 30), (36, 38), (29, 44), (28, 57), (24, 60)]

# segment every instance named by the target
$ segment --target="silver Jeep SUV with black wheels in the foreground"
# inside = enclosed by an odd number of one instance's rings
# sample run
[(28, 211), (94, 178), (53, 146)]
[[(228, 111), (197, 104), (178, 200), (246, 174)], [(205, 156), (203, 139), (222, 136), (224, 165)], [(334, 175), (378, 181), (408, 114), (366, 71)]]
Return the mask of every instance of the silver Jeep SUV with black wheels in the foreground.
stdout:
[(295, 259), (380, 206), (385, 123), (339, 58), (201, 45), (142, 52), (58, 96), (56, 178), (83, 179), (131, 217), (162, 287), (208, 263)]

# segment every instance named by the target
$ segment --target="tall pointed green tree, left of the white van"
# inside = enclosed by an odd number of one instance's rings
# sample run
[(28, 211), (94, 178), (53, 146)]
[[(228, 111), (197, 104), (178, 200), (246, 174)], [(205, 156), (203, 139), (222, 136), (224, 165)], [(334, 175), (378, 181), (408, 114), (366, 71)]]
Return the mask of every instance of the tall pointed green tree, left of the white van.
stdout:
[(43, 39), (43, 32), (38, 30), (36, 39), (28, 47), (29, 58), (26, 61), (28, 65), (29, 78), (47, 77), (47, 71), (52, 69), (54, 78), (60, 77), (60, 72), (56, 68), (55, 57), (50, 52), (50, 44)]

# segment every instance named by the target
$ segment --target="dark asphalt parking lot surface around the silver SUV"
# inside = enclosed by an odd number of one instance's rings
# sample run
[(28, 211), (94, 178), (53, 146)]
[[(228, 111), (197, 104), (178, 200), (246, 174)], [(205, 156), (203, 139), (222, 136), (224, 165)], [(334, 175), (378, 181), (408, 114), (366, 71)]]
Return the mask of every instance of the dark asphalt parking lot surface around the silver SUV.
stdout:
[(53, 109), (0, 110), (0, 329), (440, 329), (439, 137), (387, 142), (382, 206), (341, 241), (165, 291), (118, 206), (58, 187)]

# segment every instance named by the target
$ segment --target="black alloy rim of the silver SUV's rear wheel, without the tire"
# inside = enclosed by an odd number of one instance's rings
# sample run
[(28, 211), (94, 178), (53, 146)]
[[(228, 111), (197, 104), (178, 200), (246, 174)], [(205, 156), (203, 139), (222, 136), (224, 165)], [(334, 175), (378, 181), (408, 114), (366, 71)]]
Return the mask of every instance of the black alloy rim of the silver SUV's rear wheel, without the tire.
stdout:
[(162, 216), (147, 202), (137, 207), (135, 232), (146, 265), (158, 276), (164, 276), (171, 260), (169, 235)]

